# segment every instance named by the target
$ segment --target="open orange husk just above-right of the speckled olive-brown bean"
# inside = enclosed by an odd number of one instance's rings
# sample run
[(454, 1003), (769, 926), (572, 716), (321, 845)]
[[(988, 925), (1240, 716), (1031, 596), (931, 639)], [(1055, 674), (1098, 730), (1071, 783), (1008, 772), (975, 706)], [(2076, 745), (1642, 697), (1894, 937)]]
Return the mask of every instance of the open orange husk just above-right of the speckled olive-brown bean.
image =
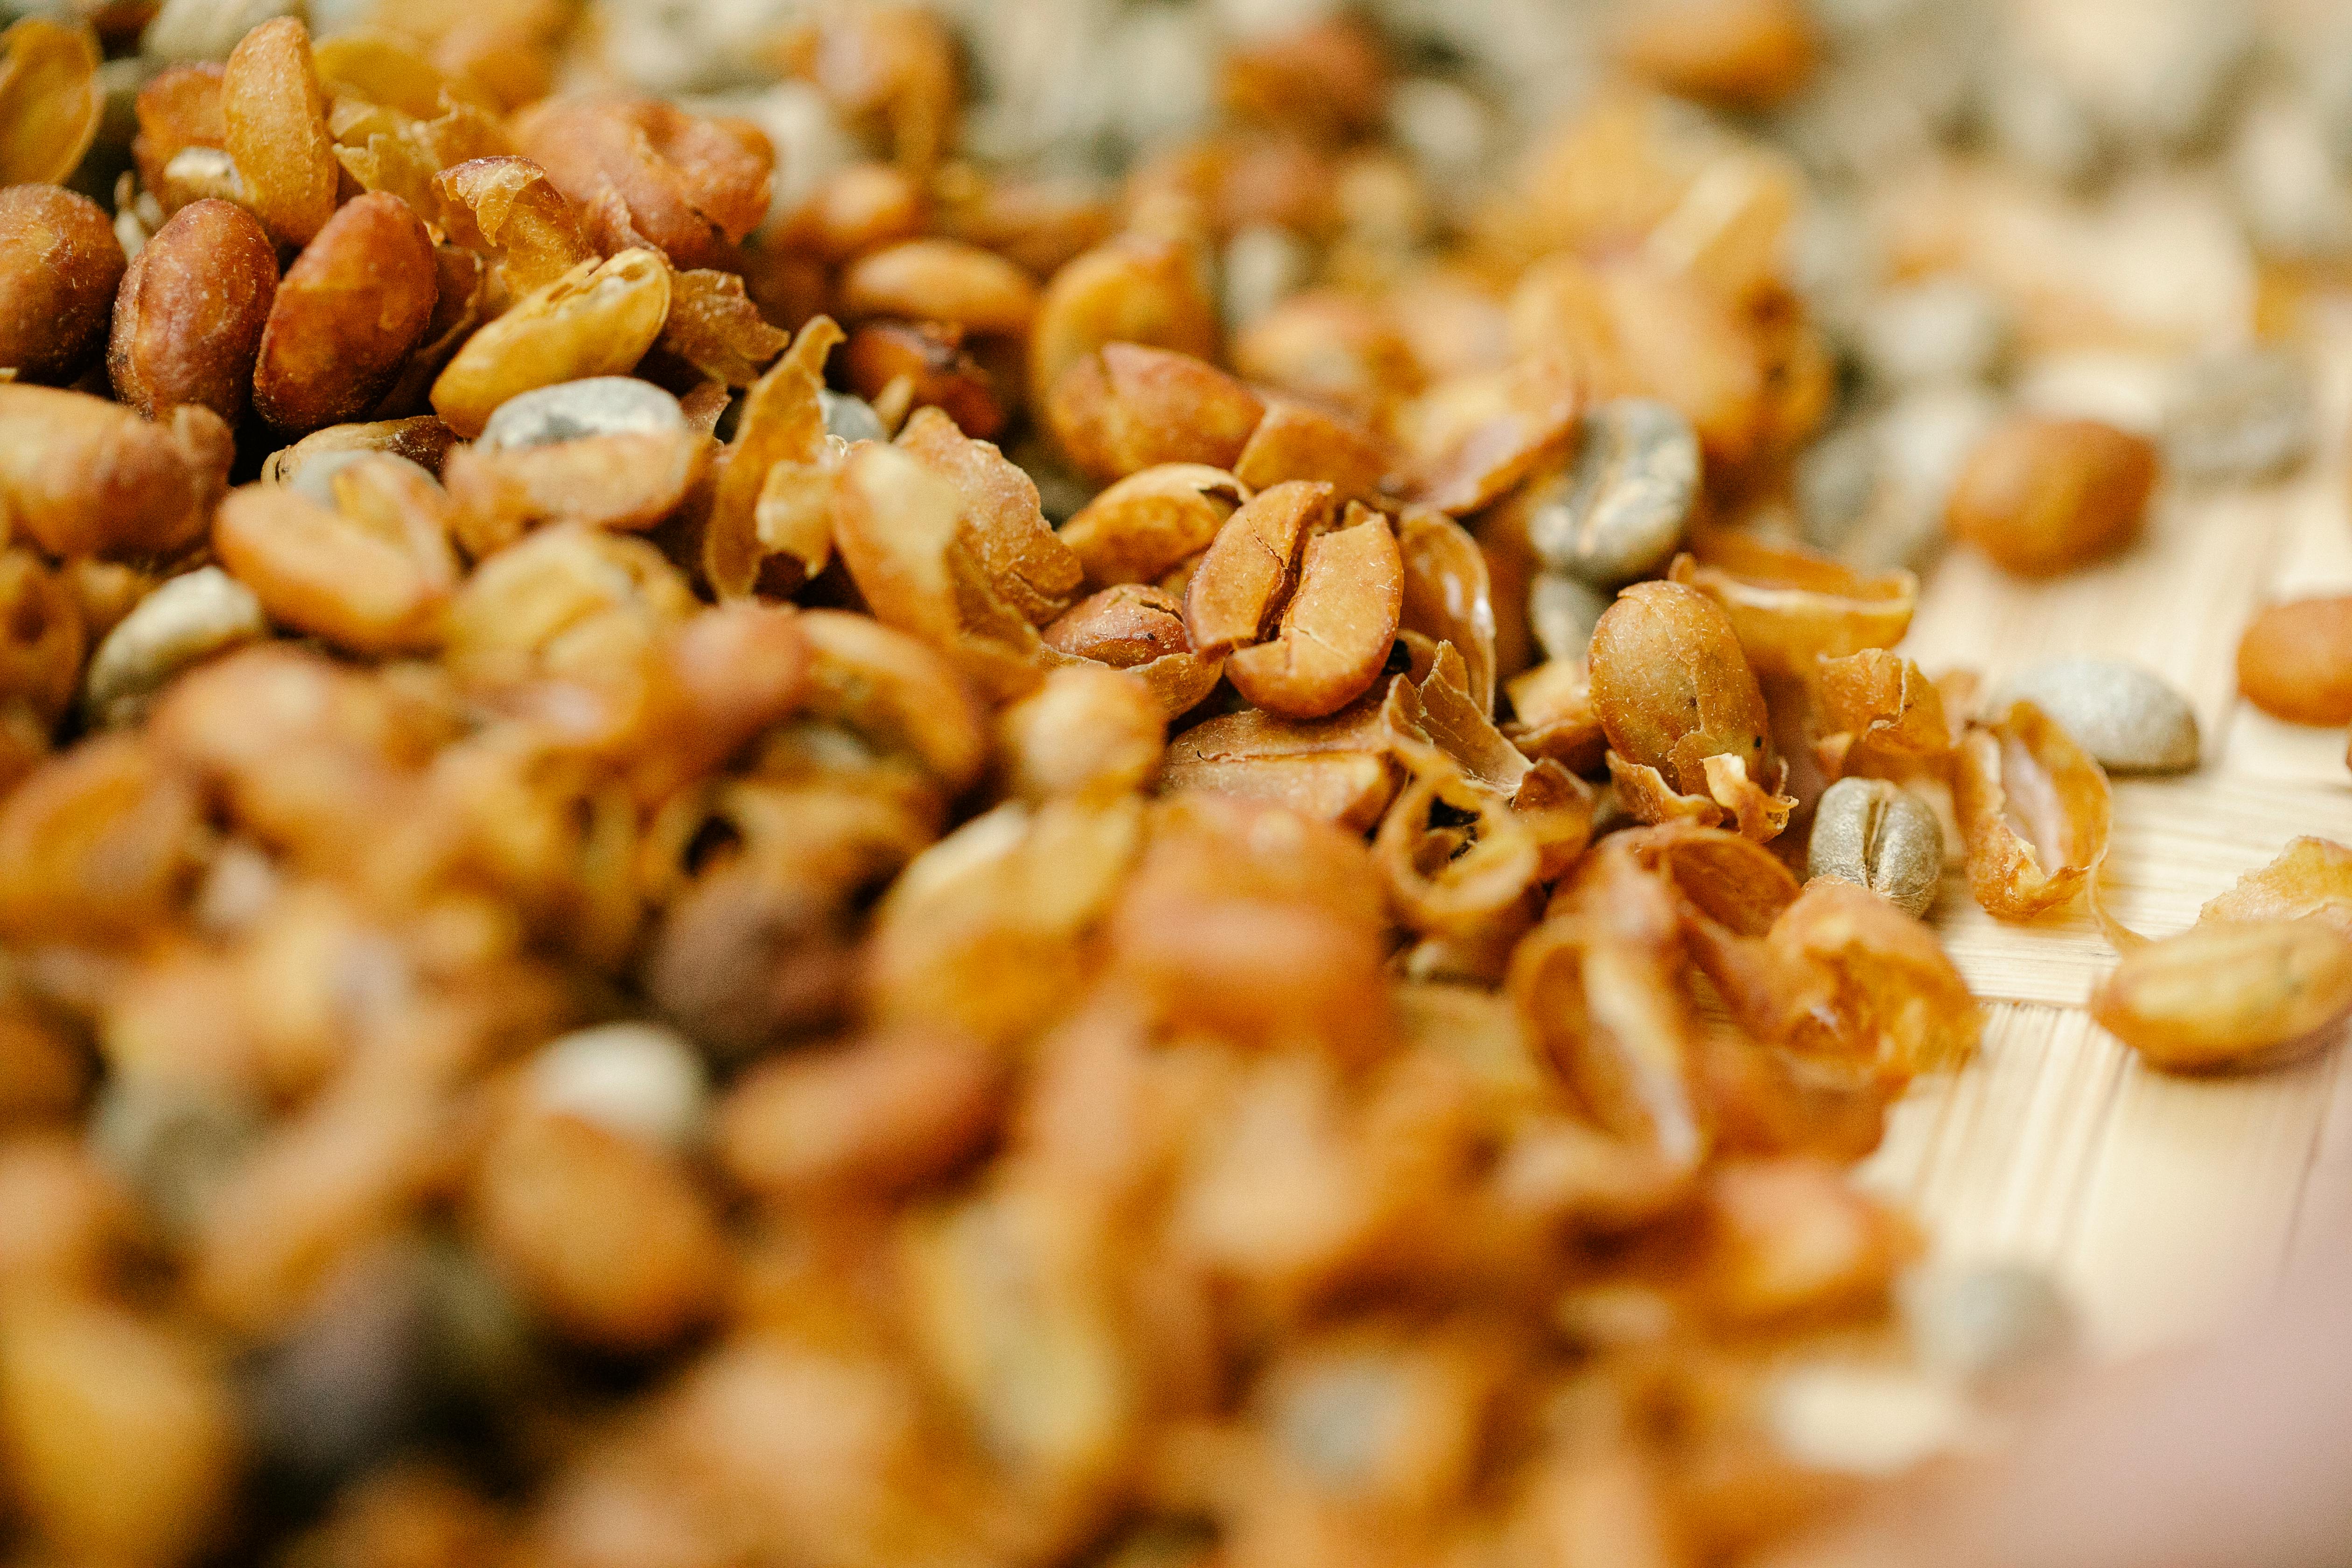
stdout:
[(1823, 658), (1891, 649), (1910, 630), (1919, 578), (1860, 574), (1811, 550), (1750, 534), (1703, 529), (1668, 576), (1731, 616), (1748, 663), (1766, 679), (1797, 679)]

